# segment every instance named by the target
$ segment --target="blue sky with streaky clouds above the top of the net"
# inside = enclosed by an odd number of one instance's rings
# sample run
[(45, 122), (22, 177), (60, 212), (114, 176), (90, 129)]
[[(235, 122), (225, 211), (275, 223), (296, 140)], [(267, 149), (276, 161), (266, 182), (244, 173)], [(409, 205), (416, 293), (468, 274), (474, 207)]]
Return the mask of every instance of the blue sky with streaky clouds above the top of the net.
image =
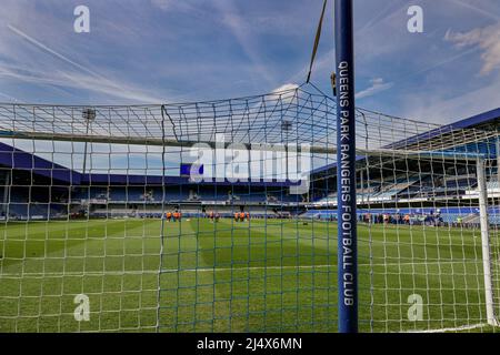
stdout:
[[(313, 82), (329, 91), (332, 2)], [(358, 105), (446, 123), (500, 106), (500, 1), (357, 0)], [(90, 33), (73, 9), (90, 8)], [(424, 32), (409, 33), (419, 4)], [(0, 101), (163, 103), (304, 81), (322, 0), (2, 0)]]

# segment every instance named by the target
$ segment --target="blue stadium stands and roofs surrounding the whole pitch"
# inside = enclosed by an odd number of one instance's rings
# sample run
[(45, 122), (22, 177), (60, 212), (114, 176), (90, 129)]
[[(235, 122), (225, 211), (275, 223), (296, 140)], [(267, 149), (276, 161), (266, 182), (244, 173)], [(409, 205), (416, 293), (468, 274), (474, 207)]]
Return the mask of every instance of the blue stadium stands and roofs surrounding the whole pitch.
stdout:
[[(472, 140), (472, 143), (457, 143), (447, 136), (447, 132), (453, 134), (457, 130), (469, 129), (498, 132), (499, 125), (500, 109), (497, 109), (386, 148), (397, 152), (399, 146), (408, 150), (418, 143), (421, 150), (426, 145), (446, 146), (449, 141), (452, 146), (448, 150), (454, 154), (461, 151), (488, 153), (488, 159), (493, 162), (487, 171), (488, 195), (500, 197), (496, 135), (483, 141)], [(447, 149), (441, 149), (442, 154), (446, 152)], [(2, 220), (159, 217), (171, 210), (183, 211), (187, 216), (210, 211), (222, 215), (249, 212), (256, 217), (334, 219), (337, 214), (336, 163), (312, 171), (310, 190), (304, 195), (290, 194), (292, 183), (280, 180), (192, 183), (183, 175), (84, 173), (7, 143), (0, 143), (0, 165)], [(478, 219), (477, 174), (471, 164), (436, 156), (414, 160), (399, 160), (397, 154), (359, 156), (357, 172), (360, 219), (366, 210), (398, 214), (401, 219), (406, 214), (421, 219), (439, 211), (444, 223)], [(470, 201), (467, 207), (463, 201)]]

